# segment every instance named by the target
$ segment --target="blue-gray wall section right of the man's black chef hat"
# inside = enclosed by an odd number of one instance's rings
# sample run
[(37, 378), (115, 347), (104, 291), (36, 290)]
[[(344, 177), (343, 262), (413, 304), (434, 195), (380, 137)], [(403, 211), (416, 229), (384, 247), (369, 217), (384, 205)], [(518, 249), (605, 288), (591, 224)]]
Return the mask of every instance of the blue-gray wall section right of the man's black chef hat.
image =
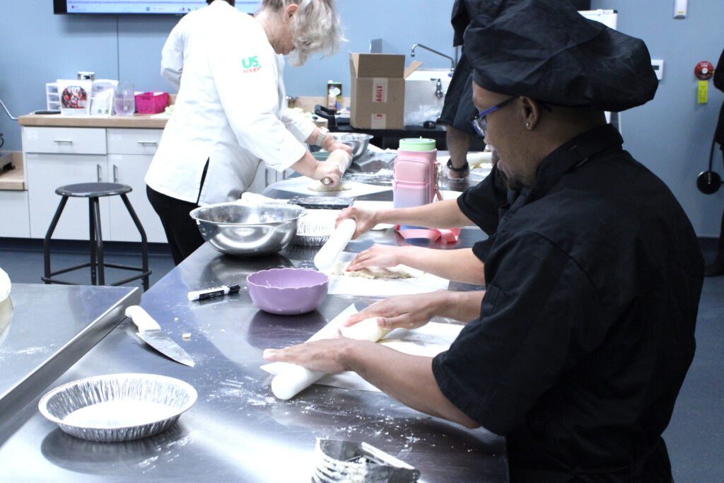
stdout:
[[(624, 148), (666, 182), (699, 236), (717, 237), (724, 189), (704, 195), (695, 182), (709, 161), (724, 93), (710, 81), (709, 103), (696, 104), (694, 66), (719, 60), (724, 1), (690, 1), (684, 20), (673, 18), (673, 0), (593, 0), (592, 8), (617, 10), (618, 30), (642, 38), (652, 59), (664, 59), (664, 78), (654, 100), (621, 114)], [(715, 170), (724, 175), (718, 145), (714, 160)]]

